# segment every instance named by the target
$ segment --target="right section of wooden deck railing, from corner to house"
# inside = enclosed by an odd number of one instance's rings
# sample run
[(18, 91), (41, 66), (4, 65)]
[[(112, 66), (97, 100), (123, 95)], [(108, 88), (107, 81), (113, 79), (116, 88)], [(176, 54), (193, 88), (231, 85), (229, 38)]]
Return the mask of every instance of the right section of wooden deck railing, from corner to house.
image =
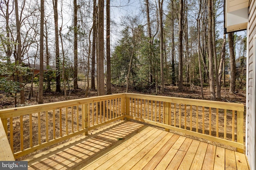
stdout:
[(126, 94), (126, 117), (244, 152), (243, 104)]

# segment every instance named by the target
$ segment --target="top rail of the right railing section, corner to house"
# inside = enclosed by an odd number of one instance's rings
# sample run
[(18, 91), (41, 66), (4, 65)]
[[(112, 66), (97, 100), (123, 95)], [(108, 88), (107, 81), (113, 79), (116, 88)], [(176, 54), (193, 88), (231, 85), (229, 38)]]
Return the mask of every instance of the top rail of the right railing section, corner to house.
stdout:
[(212, 107), (212, 108), (218, 108), (218, 109), (244, 111), (244, 104), (239, 104), (239, 103), (228, 103), (228, 102), (218, 102), (218, 101), (200, 100), (200, 99), (177, 98), (177, 97), (170, 97), (170, 96), (154, 96), (154, 95), (134, 94), (134, 93), (125, 93), (125, 95), (126, 95), (126, 97), (130, 97), (130, 98), (158, 100), (161, 102), (187, 104), (187, 105), (192, 105), (192, 106), (204, 106), (204, 107)]

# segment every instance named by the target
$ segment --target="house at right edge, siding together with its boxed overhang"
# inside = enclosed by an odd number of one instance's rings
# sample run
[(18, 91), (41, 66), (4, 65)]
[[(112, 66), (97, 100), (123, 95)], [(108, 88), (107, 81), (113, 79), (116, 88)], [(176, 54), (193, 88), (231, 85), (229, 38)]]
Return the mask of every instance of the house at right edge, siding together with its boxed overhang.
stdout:
[(246, 155), (256, 169), (256, 1), (224, 0), (225, 32), (247, 30), (246, 56)]

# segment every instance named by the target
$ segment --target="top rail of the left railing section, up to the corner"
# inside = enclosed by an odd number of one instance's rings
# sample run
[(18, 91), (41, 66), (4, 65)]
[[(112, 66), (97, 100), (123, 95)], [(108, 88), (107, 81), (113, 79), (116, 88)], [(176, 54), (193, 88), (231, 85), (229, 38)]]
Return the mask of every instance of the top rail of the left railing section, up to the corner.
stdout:
[(47, 111), (51, 109), (58, 109), (62, 107), (71, 107), (80, 104), (92, 103), (92, 102), (100, 102), (102, 100), (109, 100), (114, 98), (124, 97), (124, 94), (111, 94), (106, 96), (95, 96), (90, 98), (82, 98), (82, 99), (75, 99), (75, 100), (66, 100), (61, 102), (53, 102), (53, 103), (46, 103), (46, 104), (37, 104), (32, 106), (22, 106), (22, 107), (14, 107), (8, 109), (1, 109), (0, 110), (0, 117), (2, 119), (20, 115), (27, 115), (30, 113), (37, 113), (41, 111)]

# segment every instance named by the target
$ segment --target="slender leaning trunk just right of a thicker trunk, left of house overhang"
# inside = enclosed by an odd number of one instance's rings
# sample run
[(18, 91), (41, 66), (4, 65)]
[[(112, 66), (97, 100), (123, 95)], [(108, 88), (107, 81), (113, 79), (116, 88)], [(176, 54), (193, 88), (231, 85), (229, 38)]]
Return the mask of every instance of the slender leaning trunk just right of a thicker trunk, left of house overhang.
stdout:
[(216, 52), (216, 37), (215, 37), (215, 6), (214, 2), (212, 1), (212, 45), (213, 45), (213, 54), (214, 54), (214, 69), (216, 75), (216, 92), (217, 92), (217, 100), (221, 100), (221, 93), (220, 93), (220, 82), (218, 79), (218, 63), (217, 63), (217, 52)]

